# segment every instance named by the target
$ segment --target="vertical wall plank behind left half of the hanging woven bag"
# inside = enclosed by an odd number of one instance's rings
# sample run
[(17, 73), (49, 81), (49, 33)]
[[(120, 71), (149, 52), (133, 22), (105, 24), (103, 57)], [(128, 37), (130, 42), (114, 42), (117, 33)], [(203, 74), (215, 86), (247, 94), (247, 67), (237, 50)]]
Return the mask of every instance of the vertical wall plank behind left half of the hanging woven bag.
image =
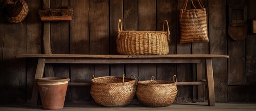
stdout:
[[(180, 29), (180, 9), (183, 7), (186, 0), (177, 1), (177, 29)], [(187, 9), (190, 9), (191, 2), (188, 2)], [(180, 30), (176, 30), (177, 36), (177, 54), (191, 54), (191, 43), (180, 44)], [(191, 64), (177, 64), (177, 81), (192, 81), (192, 65)], [(192, 99), (192, 86), (182, 85), (178, 86), (180, 92), (177, 93), (177, 102), (182, 100)]]

